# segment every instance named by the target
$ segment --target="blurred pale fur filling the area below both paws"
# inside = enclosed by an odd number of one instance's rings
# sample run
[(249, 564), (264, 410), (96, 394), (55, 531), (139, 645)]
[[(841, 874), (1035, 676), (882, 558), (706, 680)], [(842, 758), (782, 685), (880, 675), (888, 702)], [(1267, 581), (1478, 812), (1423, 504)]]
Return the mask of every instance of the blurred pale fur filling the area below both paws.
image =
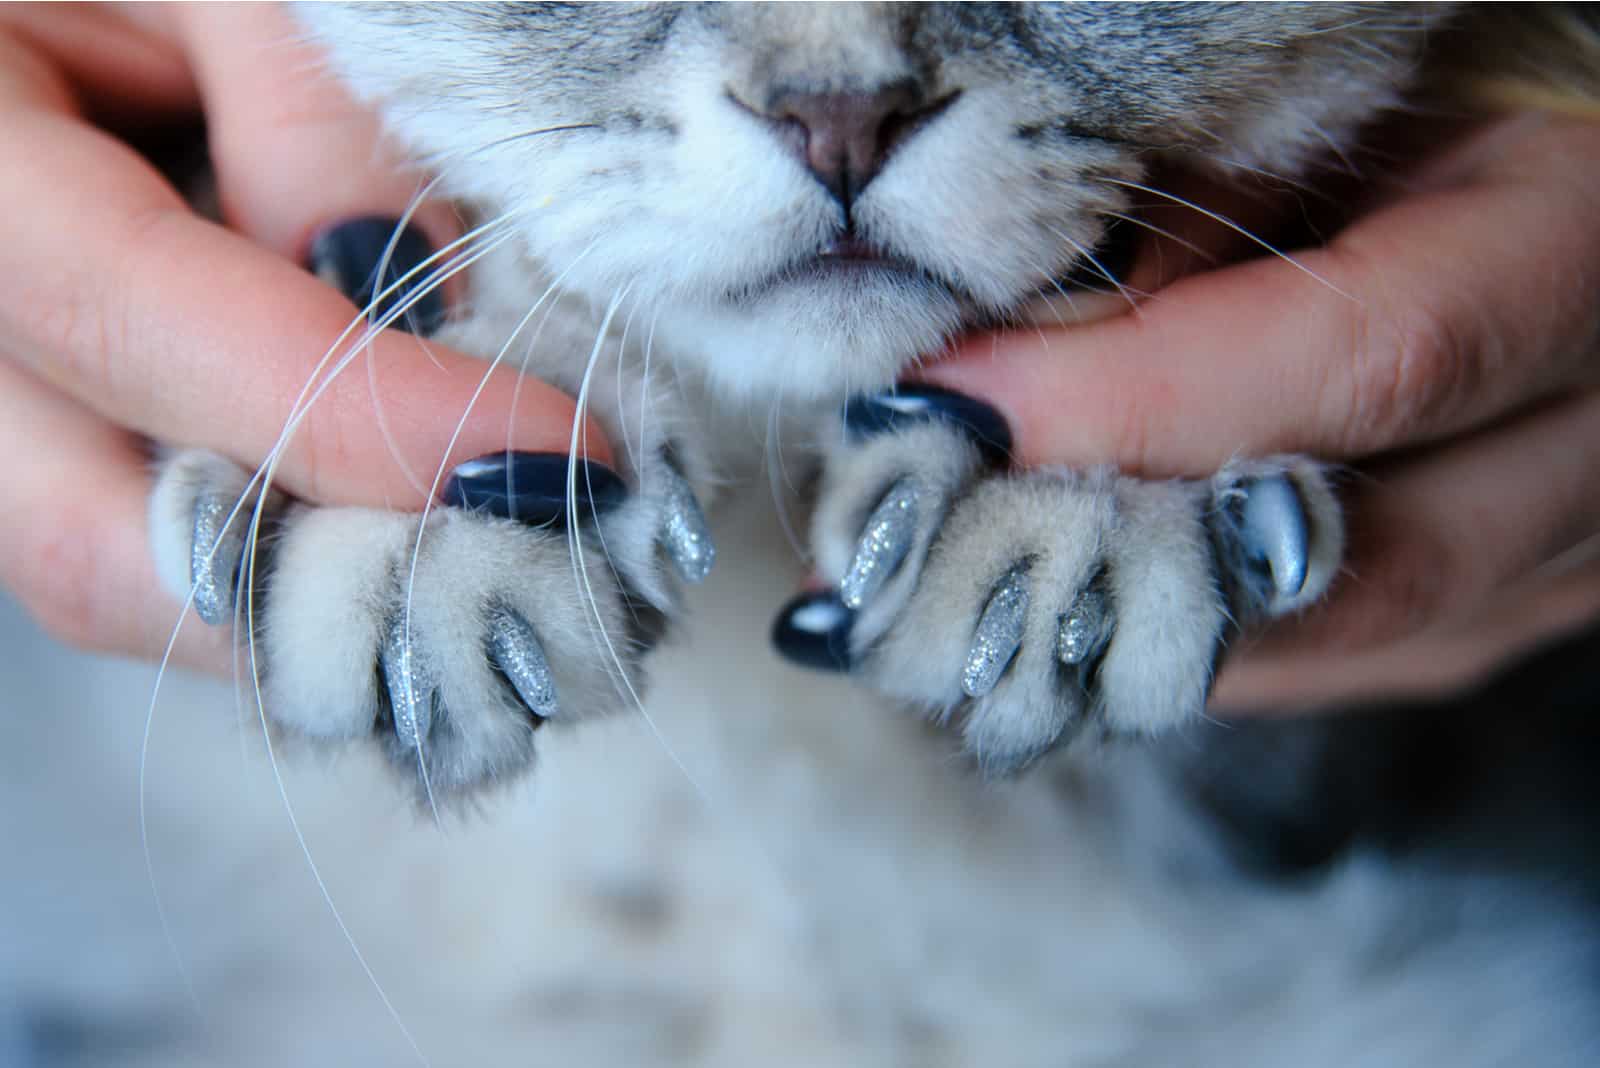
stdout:
[[(653, 657), (650, 715), (544, 732), (536, 777), (434, 827), (370, 750), (285, 758), (334, 903), (434, 1065), (1594, 1062), (1578, 902), (1355, 852), (1310, 884), (1214, 878), (1138, 751), (997, 787), (840, 679), (778, 662), (798, 579), (752, 504)], [(93, 1063), (395, 1065), (226, 686), (50, 644), (0, 604), (0, 974)], [(141, 1030), (141, 1025), (149, 1025)], [(104, 1038), (104, 1036), (112, 1038)], [(38, 1062), (14, 1062), (43, 1068)]]

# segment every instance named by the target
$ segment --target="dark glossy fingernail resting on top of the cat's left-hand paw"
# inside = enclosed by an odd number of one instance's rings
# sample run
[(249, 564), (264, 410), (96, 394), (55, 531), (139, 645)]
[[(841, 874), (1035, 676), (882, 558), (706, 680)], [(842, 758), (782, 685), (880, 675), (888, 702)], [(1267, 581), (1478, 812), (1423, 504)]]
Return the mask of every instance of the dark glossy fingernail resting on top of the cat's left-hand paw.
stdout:
[[(627, 484), (603, 464), (565, 452), (490, 452), (459, 464), (440, 499), (469, 512), (488, 512), (531, 526), (562, 524), (568, 502), (578, 520), (605, 515), (627, 497)], [(571, 478), (574, 499), (568, 499)]]

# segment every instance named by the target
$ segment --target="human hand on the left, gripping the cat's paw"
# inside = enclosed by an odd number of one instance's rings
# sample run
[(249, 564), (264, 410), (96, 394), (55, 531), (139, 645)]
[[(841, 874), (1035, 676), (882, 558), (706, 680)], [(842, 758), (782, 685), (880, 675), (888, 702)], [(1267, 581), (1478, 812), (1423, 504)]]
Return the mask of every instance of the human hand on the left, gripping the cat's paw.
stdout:
[[(0, 585), (66, 641), (165, 648), (179, 606), (150, 563), (149, 440), (261, 464), (355, 315), (296, 264), (320, 233), (322, 261), (370, 272), (371, 217), (400, 216), (418, 190), (315, 67), (270, 5), (0, 10)], [(118, 139), (198, 112), (232, 229)], [(350, 219), (366, 222), (341, 230)], [(438, 206), (414, 225), (435, 246), (459, 229)], [(403, 249), (421, 259), (426, 243)], [(554, 389), (494, 373), (446, 448), (485, 365), (398, 331), (365, 358), (376, 390), (362, 366), (336, 379), (283, 452), (291, 494), (416, 508), (427, 486), (413, 472), (568, 449), (574, 406)], [(586, 440), (610, 459), (597, 430)], [(221, 670), (227, 649), (190, 625), (174, 652)]]

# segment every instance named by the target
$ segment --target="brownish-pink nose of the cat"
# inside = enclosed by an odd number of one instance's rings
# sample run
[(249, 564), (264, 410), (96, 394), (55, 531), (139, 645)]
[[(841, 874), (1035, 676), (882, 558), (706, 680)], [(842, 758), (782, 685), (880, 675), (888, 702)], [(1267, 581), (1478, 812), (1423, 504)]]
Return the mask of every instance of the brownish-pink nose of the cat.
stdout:
[(798, 134), (789, 147), (848, 213), (890, 152), (941, 107), (899, 82), (872, 93), (778, 93), (766, 117)]

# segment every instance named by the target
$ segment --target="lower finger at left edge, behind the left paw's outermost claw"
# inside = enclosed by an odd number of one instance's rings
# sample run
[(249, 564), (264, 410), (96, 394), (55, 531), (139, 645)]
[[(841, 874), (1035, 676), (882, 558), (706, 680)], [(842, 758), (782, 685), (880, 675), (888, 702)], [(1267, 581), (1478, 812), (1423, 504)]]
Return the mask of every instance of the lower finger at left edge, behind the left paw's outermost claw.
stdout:
[[(0, 360), (0, 585), (56, 638), (160, 656), (179, 619), (147, 534), (149, 460), (123, 430)], [(229, 638), (186, 625), (174, 660), (222, 671)]]

